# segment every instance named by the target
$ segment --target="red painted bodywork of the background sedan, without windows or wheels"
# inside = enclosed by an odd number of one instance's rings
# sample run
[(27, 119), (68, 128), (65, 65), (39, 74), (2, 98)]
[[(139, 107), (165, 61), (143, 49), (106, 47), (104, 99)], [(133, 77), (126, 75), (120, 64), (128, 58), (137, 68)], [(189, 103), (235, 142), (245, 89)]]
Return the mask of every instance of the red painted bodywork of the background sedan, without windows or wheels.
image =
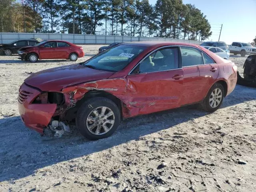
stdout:
[(48, 42), (64, 42), (69, 44), (70, 46), (54, 47), (54, 48), (42, 48), (41, 46), (27, 46), (27, 47), (21, 48), (20, 50), (24, 51), (27, 55), (30, 53), (36, 53), (39, 59), (69, 59), (70, 53), (73, 53), (73, 52), (78, 55), (78, 58), (84, 56), (84, 51), (80, 49), (82, 47), (72, 44), (70, 42), (61, 41), (61, 40), (45, 41), (45, 43), (48, 43)]

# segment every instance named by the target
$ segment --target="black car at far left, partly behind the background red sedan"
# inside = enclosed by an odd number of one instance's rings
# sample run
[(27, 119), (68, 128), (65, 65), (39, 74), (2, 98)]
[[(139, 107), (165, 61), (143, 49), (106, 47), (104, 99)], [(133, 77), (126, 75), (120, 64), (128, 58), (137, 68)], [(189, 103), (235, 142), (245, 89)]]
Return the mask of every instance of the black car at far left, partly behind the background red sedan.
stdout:
[(8, 44), (0, 44), (0, 52), (3, 52), (5, 55), (9, 56), (11, 54), (18, 54), (18, 50), (26, 46), (34, 46), (39, 43), (39, 41), (34, 39), (24, 39), (16, 40)]

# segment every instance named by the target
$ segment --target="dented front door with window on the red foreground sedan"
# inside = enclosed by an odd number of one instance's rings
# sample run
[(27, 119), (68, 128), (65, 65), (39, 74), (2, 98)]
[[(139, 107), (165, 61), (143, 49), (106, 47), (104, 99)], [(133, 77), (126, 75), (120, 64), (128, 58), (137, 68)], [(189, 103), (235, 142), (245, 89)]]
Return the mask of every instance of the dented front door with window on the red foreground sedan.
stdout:
[[(154, 60), (154, 55), (160, 55), (162, 59)], [(126, 77), (128, 104), (138, 108), (138, 114), (180, 106), (183, 70), (178, 58), (177, 47), (157, 50), (144, 58)]]

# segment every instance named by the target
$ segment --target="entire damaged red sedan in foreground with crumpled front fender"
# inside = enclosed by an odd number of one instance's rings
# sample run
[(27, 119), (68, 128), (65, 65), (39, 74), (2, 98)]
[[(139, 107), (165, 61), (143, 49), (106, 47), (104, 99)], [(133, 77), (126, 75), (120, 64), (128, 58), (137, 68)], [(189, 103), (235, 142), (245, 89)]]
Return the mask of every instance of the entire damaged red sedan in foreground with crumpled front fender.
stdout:
[(26, 126), (60, 136), (76, 125), (88, 139), (113, 134), (120, 121), (199, 103), (217, 110), (237, 79), (237, 67), (209, 50), (178, 42), (129, 42), (80, 64), (32, 74), (20, 86)]

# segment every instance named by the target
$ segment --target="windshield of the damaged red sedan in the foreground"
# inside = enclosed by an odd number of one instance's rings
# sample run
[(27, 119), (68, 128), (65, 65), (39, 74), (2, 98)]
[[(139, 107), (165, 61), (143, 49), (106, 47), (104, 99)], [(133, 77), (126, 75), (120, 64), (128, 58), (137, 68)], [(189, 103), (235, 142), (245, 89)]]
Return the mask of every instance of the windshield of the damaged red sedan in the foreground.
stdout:
[(146, 47), (142, 46), (116, 46), (92, 57), (90, 60), (82, 63), (82, 65), (98, 70), (117, 72), (125, 68), (145, 49)]

